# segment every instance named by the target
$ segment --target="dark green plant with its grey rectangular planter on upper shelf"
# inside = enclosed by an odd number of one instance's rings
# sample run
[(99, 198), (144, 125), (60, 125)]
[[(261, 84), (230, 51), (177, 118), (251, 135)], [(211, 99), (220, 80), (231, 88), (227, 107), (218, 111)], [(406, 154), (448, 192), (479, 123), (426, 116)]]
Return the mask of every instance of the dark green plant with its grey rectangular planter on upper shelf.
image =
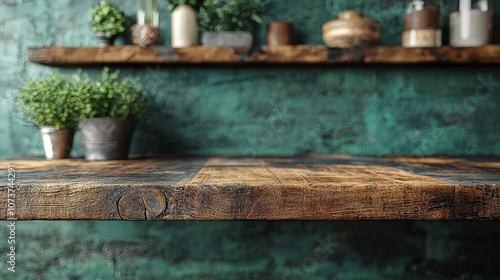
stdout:
[(266, 0), (204, 0), (199, 12), (203, 44), (249, 49), (266, 5)]

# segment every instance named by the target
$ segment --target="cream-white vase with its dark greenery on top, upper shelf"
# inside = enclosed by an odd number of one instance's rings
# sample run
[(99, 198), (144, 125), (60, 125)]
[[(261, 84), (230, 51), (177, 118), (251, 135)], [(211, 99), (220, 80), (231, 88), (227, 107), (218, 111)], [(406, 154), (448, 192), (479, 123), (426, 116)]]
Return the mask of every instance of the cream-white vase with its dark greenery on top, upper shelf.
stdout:
[(172, 47), (198, 45), (198, 12), (203, 0), (170, 0)]

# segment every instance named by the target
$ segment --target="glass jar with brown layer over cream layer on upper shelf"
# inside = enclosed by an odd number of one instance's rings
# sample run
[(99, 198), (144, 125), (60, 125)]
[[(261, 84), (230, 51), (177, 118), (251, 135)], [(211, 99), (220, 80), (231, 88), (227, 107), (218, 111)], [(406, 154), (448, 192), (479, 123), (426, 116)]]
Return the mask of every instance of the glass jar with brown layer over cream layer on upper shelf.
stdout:
[(441, 46), (441, 6), (433, 0), (413, 0), (404, 17), (403, 47)]

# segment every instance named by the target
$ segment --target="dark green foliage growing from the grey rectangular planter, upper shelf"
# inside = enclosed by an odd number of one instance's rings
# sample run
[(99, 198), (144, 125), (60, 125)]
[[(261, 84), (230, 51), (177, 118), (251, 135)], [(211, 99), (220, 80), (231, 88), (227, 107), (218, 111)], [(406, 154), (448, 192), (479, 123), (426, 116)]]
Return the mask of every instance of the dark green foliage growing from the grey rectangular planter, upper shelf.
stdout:
[(204, 0), (199, 19), (202, 31), (253, 31), (262, 23), (267, 0)]

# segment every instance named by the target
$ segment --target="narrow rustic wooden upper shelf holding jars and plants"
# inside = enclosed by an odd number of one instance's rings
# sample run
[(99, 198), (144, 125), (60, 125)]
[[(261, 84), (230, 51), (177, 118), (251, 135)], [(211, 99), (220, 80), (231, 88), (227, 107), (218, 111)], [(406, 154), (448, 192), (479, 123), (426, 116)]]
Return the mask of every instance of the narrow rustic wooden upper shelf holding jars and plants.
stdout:
[(477, 48), (375, 46), (332, 49), (325, 46), (263, 46), (242, 49), (195, 46), (172, 49), (138, 46), (29, 48), (31, 62), (54, 66), (105, 64), (498, 64), (500, 45)]

